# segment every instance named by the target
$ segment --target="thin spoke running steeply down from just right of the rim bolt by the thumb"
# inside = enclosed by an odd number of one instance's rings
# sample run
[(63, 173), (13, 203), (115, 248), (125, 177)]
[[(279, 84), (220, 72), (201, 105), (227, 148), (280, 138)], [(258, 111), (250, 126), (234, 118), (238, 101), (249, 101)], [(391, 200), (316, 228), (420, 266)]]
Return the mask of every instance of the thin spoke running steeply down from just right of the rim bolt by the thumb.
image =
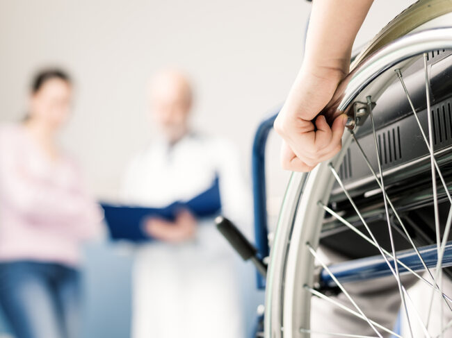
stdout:
[(385, 181), (383, 180), (383, 174), (382, 174), (382, 169), (381, 169), (380, 150), (378, 149), (377, 134), (376, 134), (376, 130), (375, 130), (375, 123), (373, 121), (371, 96), (367, 96), (366, 99), (367, 99), (367, 106), (369, 109), (369, 115), (371, 117), (373, 143), (375, 145), (376, 154), (377, 154), (378, 171), (380, 172), (380, 183), (381, 183), (380, 187), (382, 189), (383, 202), (385, 203), (385, 213), (386, 213), (387, 227), (388, 227), (388, 231), (389, 231), (389, 240), (391, 241), (392, 255), (394, 256), (394, 268), (396, 270), (395, 276), (396, 276), (396, 280), (397, 280), (398, 291), (399, 291), (399, 294), (400, 294), (401, 300), (402, 300), (403, 310), (405, 311), (405, 314), (407, 316), (407, 324), (408, 324), (408, 327), (410, 328), (410, 335), (411, 335), (411, 337), (413, 337), (412, 327), (411, 327), (411, 323), (410, 323), (410, 316), (408, 315), (408, 309), (407, 309), (407, 305), (405, 302), (405, 294), (403, 294), (401, 278), (400, 278), (400, 274), (398, 273), (398, 264), (396, 262), (397, 261), (397, 253), (396, 253), (396, 247), (394, 246), (394, 237), (392, 235), (391, 220), (389, 219), (389, 208), (387, 205)]

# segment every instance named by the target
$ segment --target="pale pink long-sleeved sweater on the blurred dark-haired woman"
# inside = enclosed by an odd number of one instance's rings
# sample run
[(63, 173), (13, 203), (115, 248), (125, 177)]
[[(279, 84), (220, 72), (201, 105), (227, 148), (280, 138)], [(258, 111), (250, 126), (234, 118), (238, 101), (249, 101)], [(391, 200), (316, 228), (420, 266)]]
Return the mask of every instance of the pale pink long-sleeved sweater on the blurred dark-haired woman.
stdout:
[(0, 127), (0, 262), (76, 265), (102, 213), (69, 158), (52, 162), (23, 126)]

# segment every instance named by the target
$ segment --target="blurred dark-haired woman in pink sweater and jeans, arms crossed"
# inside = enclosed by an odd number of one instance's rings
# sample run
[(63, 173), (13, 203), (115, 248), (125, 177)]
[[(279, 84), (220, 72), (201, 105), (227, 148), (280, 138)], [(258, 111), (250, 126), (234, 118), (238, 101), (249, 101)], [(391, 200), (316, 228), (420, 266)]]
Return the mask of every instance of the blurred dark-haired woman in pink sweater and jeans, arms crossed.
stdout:
[(0, 304), (17, 338), (78, 336), (79, 245), (101, 214), (56, 142), (71, 100), (67, 74), (42, 71), (25, 121), (0, 127)]

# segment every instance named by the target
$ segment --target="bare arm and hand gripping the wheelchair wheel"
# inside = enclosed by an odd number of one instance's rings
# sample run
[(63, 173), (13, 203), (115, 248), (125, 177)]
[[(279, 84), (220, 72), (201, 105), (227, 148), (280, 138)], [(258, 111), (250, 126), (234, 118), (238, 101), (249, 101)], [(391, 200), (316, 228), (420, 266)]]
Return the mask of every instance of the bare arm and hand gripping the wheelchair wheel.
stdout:
[(305, 57), (275, 121), (284, 142), (282, 167), (311, 171), (341, 149), (346, 116), (329, 126), (318, 113), (348, 74), (353, 42), (373, 0), (314, 0)]

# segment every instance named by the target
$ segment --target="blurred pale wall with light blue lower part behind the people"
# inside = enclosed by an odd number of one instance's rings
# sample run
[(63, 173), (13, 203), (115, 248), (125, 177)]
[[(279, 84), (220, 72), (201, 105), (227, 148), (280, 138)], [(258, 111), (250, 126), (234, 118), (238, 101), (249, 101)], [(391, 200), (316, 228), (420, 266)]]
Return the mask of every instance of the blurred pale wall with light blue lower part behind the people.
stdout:
[[(376, 0), (356, 44), (411, 2)], [(232, 140), (249, 177), (255, 128), (284, 101), (300, 67), (309, 7), (303, 0), (0, 0), (0, 121), (24, 115), (36, 69), (64, 67), (76, 81), (76, 105), (63, 143), (79, 158), (92, 192), (116, 198), (126, 162), (152, 137), (147, 80), (174, 65), (193, 78), (195, 128)], [(272, 136), (272, 219), (287, 178), (278, 148)], [(88, 255), (86, 337), (125, 337), (130, 258), (104, 246)]]

